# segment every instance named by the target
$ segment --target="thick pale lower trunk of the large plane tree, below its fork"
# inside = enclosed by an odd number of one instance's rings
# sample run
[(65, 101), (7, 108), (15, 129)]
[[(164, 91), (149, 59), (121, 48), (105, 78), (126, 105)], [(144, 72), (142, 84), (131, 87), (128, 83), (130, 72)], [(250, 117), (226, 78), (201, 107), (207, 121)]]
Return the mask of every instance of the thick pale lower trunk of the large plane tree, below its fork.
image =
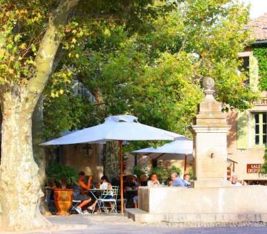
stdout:
[(34, 107), (21, 98), (23, 94), (25, 90), (16, 83), (1, 85), (1, 229), (8, 231), (48, 224), (39, 211), (43, 192), (38, 180), (39, 169), (32, 157)]

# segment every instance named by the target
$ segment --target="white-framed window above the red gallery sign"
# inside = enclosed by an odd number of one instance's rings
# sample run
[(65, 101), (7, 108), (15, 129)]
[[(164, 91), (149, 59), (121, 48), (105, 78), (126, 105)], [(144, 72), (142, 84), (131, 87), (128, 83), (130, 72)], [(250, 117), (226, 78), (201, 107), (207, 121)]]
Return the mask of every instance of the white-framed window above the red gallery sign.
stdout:
[(253, 114), (253, 145), (266, 145), (267, 113)]

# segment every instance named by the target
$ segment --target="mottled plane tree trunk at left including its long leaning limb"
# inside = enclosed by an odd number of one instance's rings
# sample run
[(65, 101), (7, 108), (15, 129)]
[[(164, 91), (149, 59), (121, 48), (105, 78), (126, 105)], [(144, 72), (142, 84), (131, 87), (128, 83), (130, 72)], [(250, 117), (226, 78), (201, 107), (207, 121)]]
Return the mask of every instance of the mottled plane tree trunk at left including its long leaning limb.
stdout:
[[(43, 192), (40, 189), (39, 168), (32, 152), (32, 113), (46, 85), (55, 55), (61, 43), (60, 28), (79, 0), (62, 0), (52, 12), (35, 62), (36, 70), (28, 83), (3, 81), (0, 84), (2, 147), (0, 167), (0, 230), (25, 231), (43, 228), (49, 222), (39, 211)], [(0, 39), (0, 50), (5, 40)], [(42, 173), (42, 172), (40, 172)], [(43, 175), (41, 175), (43, 176)]]

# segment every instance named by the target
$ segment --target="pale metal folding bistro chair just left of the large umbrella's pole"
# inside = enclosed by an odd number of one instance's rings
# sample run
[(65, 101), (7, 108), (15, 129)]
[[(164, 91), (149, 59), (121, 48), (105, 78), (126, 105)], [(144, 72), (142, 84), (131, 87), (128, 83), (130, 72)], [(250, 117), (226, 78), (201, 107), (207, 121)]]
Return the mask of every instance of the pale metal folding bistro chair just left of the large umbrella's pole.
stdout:
[[(107, 198), (112, 195), (113, 198)], [(97, 199), (97, 203), (99, 206), (100, 213), (117, 213), (117, 195), (118, 195), (118, 187), (114, 186), (112, 189), (103, 189), (101, 196)], [(102, 212), (103, 209), (103, 212)]]

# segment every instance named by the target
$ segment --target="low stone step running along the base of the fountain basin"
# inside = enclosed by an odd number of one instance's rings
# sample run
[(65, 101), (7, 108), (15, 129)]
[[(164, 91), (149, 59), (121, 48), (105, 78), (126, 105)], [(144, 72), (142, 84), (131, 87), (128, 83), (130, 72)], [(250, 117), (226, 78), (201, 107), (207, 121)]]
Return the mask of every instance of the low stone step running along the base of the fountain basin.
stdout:
[(140, 209), (126, 209), (124, 216), (138, 223), (144, 222), (267, 222), (267, 213), (147, 213)]

